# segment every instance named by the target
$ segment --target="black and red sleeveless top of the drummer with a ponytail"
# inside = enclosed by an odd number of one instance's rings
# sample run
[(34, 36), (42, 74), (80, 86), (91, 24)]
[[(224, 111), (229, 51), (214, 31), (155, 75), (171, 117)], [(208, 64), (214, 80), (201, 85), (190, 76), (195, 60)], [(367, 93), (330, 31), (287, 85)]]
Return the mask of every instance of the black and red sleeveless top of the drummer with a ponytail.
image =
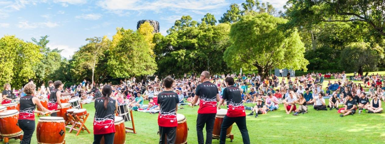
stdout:
[(104, 109), (105, 97), (95, 99), (94, 134), (109, 134), (115, 132), (115, 103), (108, 98), (107, 109)]

